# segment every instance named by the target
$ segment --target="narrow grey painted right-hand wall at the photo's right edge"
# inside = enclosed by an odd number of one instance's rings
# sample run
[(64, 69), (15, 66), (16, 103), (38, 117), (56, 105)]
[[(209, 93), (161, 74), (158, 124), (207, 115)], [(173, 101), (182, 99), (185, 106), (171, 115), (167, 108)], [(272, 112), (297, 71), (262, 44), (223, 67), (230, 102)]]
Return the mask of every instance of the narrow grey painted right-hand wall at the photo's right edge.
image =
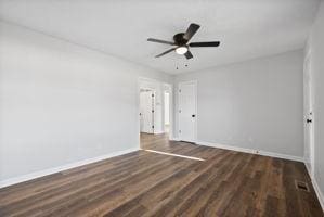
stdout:
[(324, 2), (317, 12), (309, 37), (307, 53), (310, 52), (311, 82), (313, 90), (314, 126), (314, 179), (320, 189), (324, 208)]

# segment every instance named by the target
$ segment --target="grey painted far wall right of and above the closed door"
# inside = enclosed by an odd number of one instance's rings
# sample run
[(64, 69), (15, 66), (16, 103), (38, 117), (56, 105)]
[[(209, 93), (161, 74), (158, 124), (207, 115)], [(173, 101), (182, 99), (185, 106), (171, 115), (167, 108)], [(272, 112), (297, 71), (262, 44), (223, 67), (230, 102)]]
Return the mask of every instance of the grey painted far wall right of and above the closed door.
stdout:
[(174, 85), (197, 80), (198, 142), (303, 156), (302, 56), (298, 50), (177, 76)]

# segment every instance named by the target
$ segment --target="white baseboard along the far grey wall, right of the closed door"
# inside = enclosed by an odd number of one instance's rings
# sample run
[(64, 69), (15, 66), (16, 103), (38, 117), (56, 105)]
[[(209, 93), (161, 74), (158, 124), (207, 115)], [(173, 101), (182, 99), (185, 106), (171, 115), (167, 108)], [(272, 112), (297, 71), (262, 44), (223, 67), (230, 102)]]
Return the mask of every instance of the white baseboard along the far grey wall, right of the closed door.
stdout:
[(197, 141), (196, 143), (200, 144), (200, 145), (206, 145), (206, 146), (232, 150), (232, 151), (244, 152), (244, 153), (249, 153), (249, 154), (258, 154), (258, 155), (263, 155), (263, 156), (277, 157), (277, 158), (283, 158), (283, 159), (290, 159), (290, 161), (303, 163), (303, 157), (301, 157), (301, 156), (293, 156), (293, 155), (280, 154), (280, 153), (275, 153), (275, 152), (245, 149), (245, 148), (239, 148), (239, 146), (233, 146), (233, 145), (228, 145), (228, 144), (217, 144), (217, 143), (204, 142), (204, 141)]

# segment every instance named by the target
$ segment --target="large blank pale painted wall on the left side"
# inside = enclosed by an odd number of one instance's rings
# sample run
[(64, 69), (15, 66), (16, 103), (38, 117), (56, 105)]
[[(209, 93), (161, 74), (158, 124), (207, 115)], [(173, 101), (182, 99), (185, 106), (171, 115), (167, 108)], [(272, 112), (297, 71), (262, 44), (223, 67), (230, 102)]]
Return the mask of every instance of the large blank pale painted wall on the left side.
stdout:
[(139, 148), (142, 67), (0, 23), (0, 181)]

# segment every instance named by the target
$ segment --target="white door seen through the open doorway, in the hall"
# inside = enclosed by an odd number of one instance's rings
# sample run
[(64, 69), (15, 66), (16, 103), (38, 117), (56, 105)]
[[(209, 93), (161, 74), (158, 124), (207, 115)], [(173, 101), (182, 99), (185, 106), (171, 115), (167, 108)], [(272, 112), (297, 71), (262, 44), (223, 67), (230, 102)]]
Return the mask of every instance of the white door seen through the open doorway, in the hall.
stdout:
[(154, 133), (154, 92), (140, 93), (141, 132)]

